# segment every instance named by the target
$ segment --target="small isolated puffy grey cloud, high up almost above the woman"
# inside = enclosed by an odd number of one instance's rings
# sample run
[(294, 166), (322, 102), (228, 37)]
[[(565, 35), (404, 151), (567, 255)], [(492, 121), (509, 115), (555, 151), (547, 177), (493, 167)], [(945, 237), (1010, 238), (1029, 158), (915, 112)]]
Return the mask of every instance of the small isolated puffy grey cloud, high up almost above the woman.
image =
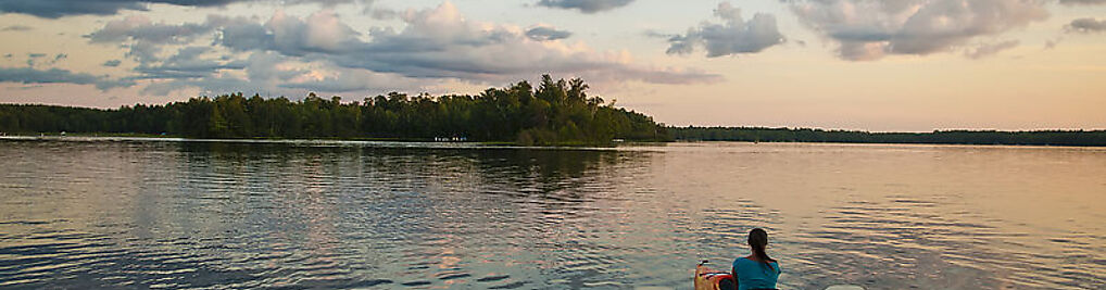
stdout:
[(757, 13), (753, 19), (741, 19), (741, 10), (729, 2), (722, 2), (714, 9), (714, 17), (726, 22), (722, 24), (703, 22), (698, 28), (689, 28), (687, 33), (668, 39), (668, 54), (689, 54), (696, 46), (705, 46), (708, 58), (757, 53), (784, 42), (784, 37), (776, 27), (775, 17)]

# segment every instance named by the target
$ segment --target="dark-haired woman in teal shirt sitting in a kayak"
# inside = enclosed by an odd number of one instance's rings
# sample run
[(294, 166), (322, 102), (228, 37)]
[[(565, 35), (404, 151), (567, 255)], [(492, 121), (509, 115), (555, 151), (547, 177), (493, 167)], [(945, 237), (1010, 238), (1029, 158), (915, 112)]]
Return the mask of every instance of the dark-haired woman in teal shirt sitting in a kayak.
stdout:
[(755, 228), (749, 231), (749, 248), (752, 255), (733, 260), (733, 278), (738, 281), (738, 290), (775, 289), (780, 278), (780, 263), (768, 257), (768, 231)]

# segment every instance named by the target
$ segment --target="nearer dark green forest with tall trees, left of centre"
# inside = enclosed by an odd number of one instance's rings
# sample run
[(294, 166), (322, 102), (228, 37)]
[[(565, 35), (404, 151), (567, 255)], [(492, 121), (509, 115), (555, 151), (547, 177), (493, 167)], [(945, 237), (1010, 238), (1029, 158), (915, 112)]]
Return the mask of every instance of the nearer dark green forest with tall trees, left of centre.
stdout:
[(101, 110), (0, 104), (3, 134), (152, 134), (189, 138), (344, 138), (501, 142), (519, 145), (597, 145), (670, 141), (651, 117), (588, 96), (581, 79), (543, 75), (478, 95), (388, 93), (362, 101), (314, 93), (250, 97), (241, 93), (192, 97), (165, 105)]

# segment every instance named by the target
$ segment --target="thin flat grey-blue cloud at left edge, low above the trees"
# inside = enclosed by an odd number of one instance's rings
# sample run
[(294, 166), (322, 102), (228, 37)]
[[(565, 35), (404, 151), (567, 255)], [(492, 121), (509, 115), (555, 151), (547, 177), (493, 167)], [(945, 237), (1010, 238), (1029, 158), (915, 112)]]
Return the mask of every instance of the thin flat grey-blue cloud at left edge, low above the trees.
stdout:
[(111, 80), (107, 79), (107, 76), (74, 73), (61, 69), (36, 70), (33, 68), (0, 68), (0, 82), (14, 82), (22, 84), (92, 84), (101, 91), (119, 86), (126, 87), (135, 84), (132, 81)]

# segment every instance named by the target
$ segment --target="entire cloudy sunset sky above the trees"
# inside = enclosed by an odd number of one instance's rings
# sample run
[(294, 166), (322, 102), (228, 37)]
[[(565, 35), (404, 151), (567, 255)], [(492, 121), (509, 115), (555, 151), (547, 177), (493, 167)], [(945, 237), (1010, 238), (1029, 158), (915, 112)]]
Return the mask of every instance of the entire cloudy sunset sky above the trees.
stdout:
[(0, 0), (0, 102), (478, 94), (671, 125), (1106, 128), (1106, 0)]

